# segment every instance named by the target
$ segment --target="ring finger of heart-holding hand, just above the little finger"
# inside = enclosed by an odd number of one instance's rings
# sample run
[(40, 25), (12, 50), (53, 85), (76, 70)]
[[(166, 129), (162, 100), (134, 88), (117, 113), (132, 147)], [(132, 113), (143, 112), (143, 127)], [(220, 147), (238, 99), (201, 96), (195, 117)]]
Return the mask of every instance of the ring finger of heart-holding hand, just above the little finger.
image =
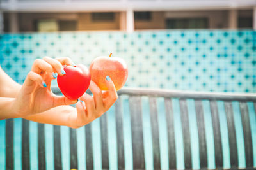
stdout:
[(42, 59), (36, 59), (35, 62), (33, 63), (33, 66), (31, 68), (31, 71), (37, 73), (37, 74), (41, 74), (44, 72), (50, 73), (51, 74), (51, 78), (54, 78), (53, 76), (53, 69), (52, 66), (45, 62)]

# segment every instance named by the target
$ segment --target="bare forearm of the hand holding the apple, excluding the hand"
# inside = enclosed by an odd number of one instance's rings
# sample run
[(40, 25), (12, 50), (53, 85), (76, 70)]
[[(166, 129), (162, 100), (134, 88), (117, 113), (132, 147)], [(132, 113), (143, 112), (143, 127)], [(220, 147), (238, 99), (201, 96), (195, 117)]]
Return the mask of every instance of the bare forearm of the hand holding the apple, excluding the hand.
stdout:
[(52, 108), (51, 110), (47, 110), (35, 115), (29, 115), (28, 117), (24, 118), (42, 124), (64, 125), (72, 127), (72, 120), (70, 119), (76, 115), (76, 108), (73, 108), (72, 106), (58, 106), (56, 108)]

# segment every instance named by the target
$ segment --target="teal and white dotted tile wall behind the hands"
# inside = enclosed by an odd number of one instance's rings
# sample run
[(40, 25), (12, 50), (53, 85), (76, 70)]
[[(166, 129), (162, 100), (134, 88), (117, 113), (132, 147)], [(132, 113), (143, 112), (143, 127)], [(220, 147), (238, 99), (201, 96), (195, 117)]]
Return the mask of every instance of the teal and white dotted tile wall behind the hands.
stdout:
[[(256, 92), (256, 32), (136, 31), (0, 35), (0, 64), (22, 83), (33, 60), (70, 57), (89, 66), (97, 56), (122, 57), (126, 86)], [(56, 85), (56, 81), (53, 82)]]

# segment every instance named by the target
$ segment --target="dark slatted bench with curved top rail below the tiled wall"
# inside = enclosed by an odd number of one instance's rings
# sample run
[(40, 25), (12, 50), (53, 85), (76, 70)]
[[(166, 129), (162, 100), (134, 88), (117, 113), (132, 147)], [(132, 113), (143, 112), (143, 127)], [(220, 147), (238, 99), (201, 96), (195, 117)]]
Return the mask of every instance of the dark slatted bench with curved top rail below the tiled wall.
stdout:
[(254, 169), (255, 113), (255, 94), (126, 87), (80, 129), (1, 121), (0, 169)]

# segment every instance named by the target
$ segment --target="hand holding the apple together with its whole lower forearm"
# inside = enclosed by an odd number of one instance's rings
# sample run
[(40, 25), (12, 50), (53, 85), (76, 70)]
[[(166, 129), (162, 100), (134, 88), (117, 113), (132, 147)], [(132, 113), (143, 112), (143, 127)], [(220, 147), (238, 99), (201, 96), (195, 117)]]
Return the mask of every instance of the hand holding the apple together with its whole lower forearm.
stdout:
[(106, 80), (106, 83), (108, 91), (102, 92), (91, 81), (89, 88), (93, 92), (93, 97), (84, 94), (80, 97), (84, 102), (78, 102), (76, 108), (72, 106), (58, 106), (24, 118), (41, 124), (65, 125), (71, 128), (82, 127), (100, 117), (115, 103), (117, 99), (115, 85), (111, 80)]

